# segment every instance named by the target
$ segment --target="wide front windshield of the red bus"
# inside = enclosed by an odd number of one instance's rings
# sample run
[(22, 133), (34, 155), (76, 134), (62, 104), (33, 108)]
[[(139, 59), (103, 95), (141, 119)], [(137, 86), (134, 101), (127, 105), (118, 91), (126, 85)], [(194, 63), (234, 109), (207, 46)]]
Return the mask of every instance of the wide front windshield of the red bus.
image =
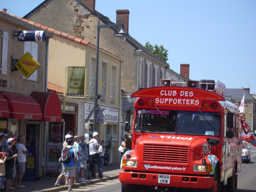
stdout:
[(212, 112), (138, 109), (134, 131), (219, 136), (220, 119)]

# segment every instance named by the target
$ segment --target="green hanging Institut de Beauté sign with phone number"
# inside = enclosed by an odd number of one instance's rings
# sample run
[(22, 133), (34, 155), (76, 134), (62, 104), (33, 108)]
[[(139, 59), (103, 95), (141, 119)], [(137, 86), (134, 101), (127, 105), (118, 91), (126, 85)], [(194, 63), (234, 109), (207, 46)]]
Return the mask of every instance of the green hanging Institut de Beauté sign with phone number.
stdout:
[(85, 67), (68, 67), (67, 97), (85, 97)]

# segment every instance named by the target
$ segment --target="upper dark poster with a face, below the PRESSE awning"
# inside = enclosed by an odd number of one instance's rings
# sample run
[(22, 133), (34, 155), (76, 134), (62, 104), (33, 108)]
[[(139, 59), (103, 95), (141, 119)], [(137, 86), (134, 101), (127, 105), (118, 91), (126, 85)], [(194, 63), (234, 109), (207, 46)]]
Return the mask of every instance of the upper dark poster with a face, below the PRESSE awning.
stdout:
[(49, 141), (50, 142), (62, 142), (63, 141), (63, 124), (59, 123), (49, 123)]

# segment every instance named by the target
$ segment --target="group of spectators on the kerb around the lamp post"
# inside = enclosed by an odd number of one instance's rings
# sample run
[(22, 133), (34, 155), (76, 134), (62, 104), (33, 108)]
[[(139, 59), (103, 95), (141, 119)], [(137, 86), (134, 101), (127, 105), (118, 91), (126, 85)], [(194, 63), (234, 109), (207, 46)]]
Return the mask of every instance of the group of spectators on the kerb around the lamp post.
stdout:
[[(96, 179), (103, 178), (103, 150), (102, 146), (104, 145), (104, 141), (100, 140), (99, 143), (97, 141), (99, 134), (97, 132), (93, 132), (93, 138), (85, 143), (84, 136), (74, 136), (72, 132), (68, 132), (65, 135), (65, 142), (63, 143), (63, 151), (66, 148), (69, 148), (71, 160), (69, 163), (62, 163), (62, 167), (60, 168), (60, 175), (57, 178), (57, 181), (54, 184), (54, 187), (59, 187), (60, 182), (63, 179), (63, 184), (68, 185), (68, 191), (72, 190), (72, 184), (77, 182), (86, 182), (83, 177), (84, 170), (86, 169), (86, 163), (89, 160), (88, 150), (90, 154), (90, 164), (88, 168), (88, 178), (91, 178), (91, 172), (93, 171), (93, 167), (96, 167)], [(88, 149), (89, 147), (89, 149)], [(103, 154), (103, 155), (102, 155)]]

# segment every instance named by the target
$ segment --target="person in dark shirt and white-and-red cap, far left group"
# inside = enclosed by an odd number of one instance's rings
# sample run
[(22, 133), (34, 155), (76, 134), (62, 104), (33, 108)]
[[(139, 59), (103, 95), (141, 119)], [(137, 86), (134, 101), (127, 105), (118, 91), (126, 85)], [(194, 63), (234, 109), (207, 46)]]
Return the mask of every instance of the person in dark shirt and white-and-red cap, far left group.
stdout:
[(18, 154), (14, 154), (13, 152), (13, 145), (16, 144), (16, 138), (9, 138), (7, 140), (7, 143), (9, 144), (9, 147), (7, 147), (7, 151), (6, 151), (6, 165), (5, 165), (5, 188), (7, 190), (5, 190), (5, 192), (11, 192), (11, 190), (9, 189), (9, 185), (10, 185), (10, 179), (13, 179), (13, 167), (14, 167), (14, 158), (18, 157)]

